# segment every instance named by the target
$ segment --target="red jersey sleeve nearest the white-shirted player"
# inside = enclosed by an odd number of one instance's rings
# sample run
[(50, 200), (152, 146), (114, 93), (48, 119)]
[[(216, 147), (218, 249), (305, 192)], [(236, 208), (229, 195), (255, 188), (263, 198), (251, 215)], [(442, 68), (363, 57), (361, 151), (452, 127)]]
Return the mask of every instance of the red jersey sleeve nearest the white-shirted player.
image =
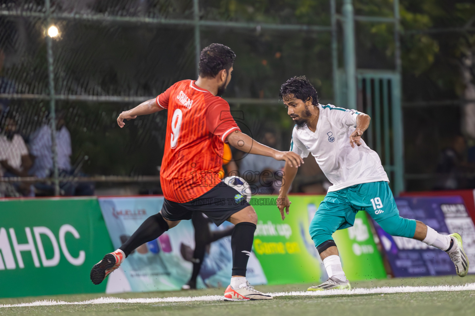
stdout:
[(217, 135), (225, 143), (231, 132), (241, 131), (231, 115), (229, 104), (221, 99), (210, 105), (206, 112), (206, 126), (209, 133)]

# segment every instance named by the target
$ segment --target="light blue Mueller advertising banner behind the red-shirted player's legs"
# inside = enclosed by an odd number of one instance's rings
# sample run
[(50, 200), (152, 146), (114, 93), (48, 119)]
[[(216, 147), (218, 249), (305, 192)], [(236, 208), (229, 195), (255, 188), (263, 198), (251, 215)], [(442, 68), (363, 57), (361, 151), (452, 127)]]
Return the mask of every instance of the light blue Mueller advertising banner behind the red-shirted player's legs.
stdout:
[[(143, 221), (161, 210), (163, 197), (99, 198), (99, 205), (114, 249), (120, 247)], [(226, 230), (232, 224), (216, 226), (209, 221), (209, 230)], [(177, 290), (185, 284), (193, 269), (194, 228), (190, 220), (142, 244), (114, 271), (107, 282), (106, 293), (125, 291)], [(232, 269), (231, 236), (209, 245), (197, 280), (198, 288), (226, 287)], [(251, 253), (247, 280), (266, 284), (266, 276), (256, 255)]]

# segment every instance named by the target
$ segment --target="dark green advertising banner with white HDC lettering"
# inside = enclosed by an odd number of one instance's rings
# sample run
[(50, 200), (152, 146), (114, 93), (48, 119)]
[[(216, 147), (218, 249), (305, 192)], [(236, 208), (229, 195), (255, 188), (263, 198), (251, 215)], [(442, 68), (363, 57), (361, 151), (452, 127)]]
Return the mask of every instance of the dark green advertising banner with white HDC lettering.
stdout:
[(112, 244), (96, 198), (0, 200), (0, 297), (105, 292), (89, 280)]

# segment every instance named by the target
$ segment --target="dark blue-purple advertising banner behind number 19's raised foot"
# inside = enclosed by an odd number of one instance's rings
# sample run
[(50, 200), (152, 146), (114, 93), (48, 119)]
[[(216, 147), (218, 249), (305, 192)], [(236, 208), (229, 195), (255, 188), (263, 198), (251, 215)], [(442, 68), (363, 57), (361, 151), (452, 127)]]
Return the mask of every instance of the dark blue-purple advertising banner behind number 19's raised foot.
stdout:
[[(459, 233), (468, 260), (475, 262), (475, 226), (462, 197), (404, 197), (396, 198), (396, 205), (401, 217), (422, 221), (443, 235)], [(444, 251), (415, 239), (391, 236), (376, 222), (374, 226), (395, 277), (456, 274)], [(469, 273), (474, 272), (472, 264)]]

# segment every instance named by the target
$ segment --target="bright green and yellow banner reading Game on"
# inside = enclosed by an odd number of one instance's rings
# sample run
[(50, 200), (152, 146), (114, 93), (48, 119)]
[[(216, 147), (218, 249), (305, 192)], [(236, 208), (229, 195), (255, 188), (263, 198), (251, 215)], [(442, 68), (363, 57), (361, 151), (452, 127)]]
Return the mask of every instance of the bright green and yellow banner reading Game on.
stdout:
[[(259, 218), (253, 250), (268, 284), (317, 283), (325, 279), (323, 262), (308, 233), (309, 223), (324, 196), (289, 196), (292, 205), (284, 221), (276, 198), (261, 196), (251, 200)], [(364, 212), (358, 212), (353, 227), (337, 231), (333, 238), (349, 280), (387, 277)]]

